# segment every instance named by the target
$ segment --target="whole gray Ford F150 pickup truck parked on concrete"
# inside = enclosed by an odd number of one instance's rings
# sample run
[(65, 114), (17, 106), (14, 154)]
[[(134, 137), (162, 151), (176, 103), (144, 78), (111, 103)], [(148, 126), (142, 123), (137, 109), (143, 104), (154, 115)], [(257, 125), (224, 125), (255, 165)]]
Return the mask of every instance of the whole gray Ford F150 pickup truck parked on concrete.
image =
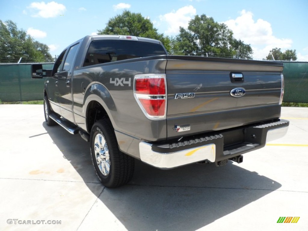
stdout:
[(68, 46), (47, 77), (47, 125), (90, 142), (106, 187), (128, 183), (134, 158), (156, 168), (228, 160), (284, 136), (279, 62), (168, 55), (161, 42), (86, 36)]

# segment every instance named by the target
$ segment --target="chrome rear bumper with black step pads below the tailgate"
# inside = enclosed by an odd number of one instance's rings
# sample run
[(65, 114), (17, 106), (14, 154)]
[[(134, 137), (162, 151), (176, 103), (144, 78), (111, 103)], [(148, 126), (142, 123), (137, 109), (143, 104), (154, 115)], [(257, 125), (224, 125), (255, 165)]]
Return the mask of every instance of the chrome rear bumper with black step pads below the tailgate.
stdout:
[(140, 159), (156, 168), (168, 169), (203, 160), (217, 162), (240, 156), (265, 146), (269, 141), (284, 136), (289, 121), (278, 120), (257, 126), (238, 128), (242, 130), (242, 142), (224, 147), (224, 135), (233, 135), (231, 131), (221, 131), (213, 136), (190, 137), (190, 139), (166, 144), (139, 143)]

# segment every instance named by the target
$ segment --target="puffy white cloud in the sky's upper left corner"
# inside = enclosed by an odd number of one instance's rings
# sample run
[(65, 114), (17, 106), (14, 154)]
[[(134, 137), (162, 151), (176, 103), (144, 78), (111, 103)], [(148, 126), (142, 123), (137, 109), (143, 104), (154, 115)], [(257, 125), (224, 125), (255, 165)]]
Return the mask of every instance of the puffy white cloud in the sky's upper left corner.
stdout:
[(66, 11), (66, 7), (63, 4), (57, 2), (32, 2), (28, 9), (34, 11), (32, 17), (53, 18), (60, 16)]

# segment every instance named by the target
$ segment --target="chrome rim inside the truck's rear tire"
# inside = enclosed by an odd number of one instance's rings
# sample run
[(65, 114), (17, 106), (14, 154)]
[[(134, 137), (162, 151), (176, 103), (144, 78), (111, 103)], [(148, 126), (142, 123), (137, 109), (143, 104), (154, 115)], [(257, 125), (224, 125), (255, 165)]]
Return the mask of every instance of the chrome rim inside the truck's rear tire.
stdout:
[(105, 137), (100, 133), (95, 136), (94, 152), (100, 172), (107, 176), (110, 171), (109, 150)]

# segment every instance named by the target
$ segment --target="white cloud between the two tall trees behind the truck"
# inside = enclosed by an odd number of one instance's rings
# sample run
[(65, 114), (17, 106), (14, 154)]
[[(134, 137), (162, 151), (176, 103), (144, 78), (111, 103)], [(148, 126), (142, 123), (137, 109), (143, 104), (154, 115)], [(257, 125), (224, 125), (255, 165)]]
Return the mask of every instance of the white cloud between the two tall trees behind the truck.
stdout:
[(184, 6), (176, 11), (160, 15), (160, 22), (167, 23), (168, 29), (165, 34), (177, 34), (179, 33), (179, 27), (187, 28), (189, 20), (196, 15), (197, 10), (193, 6)]

